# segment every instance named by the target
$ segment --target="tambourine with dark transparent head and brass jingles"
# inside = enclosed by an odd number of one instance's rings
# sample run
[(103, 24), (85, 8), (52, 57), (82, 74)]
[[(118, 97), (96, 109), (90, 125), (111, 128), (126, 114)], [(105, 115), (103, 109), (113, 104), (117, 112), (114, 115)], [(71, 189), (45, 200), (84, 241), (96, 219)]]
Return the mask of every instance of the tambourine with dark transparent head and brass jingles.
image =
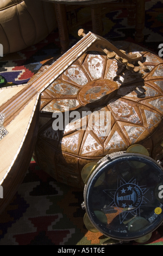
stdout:
[(119, 241), (148, 241), (163, 221), (162, 170), (141, 145), (86, 164), (86, 228)]

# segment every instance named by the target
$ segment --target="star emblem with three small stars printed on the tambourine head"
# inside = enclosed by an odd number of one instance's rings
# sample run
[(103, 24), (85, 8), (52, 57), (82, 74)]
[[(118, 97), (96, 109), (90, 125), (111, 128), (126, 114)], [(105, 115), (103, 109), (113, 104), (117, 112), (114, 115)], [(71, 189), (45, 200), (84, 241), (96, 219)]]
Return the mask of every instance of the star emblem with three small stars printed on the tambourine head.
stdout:
[(132, 178), (126, 182), (122, 178), (117, 182), (117, 188), (114, 190), (103, 190), (112, 202), (106, 206), (105, 213), (109, 214), (112, 210), (117, 210), (120, 216), (120, 223), (131, 214), (134, 217), (140, 216), (140, 207), (145, 206), (149, 200), (145, 197), (148, 188), (136, 184), (136, 179)]

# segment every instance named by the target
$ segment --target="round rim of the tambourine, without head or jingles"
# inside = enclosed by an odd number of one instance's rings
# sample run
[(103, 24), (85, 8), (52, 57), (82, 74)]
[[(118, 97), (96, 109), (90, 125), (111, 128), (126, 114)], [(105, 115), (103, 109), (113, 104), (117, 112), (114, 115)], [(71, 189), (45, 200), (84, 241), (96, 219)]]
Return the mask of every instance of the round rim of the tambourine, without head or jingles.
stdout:
[[(160, 169), (160, 172), (162, 172), (162, 175), (163, 175), (163, 168), (162, 166), (154, 159), (152, 159), (152, 157), (150, 156), (146, 156), (146, 155), (142, 155), (142, 154), (137, 154), (137, 153), (127, 153), (127, 151), (118, 151), (118, 152), (115, 152), (115, 153), (112, 153), (112, 154), (109, 154), (109, 155), (106, 155), (104, 157), (102, 157), (101, 160), (99, 160), (97, 163), (99, 163), (99, 165), (96, 167), (96, 169), (94, 170), (94, 172), (91, 174), (89, 180), (87, 181), (87, 184), (84, 186), (84, 205), (85, 205), (85, 211), (86, 211), (86, 214), (87, 216), (89, 217), (89, 220), (90, 222), (95, 226), (95, 228), (97, 228), (99, 230), (99, 232), (101, 232), (102, 234), (104, 234), (105, 236), (107, 237), (110, 237), (112, 239), (115, 239), (115, 240), (120, 240), (120, 241), (131, 241), (131, 240), (136, 240), (136, 239), (139, 239), (140, 237), (142, 236), (145, 236), (145, 235), (148, 235), (149, 233), (152, 233), (154, 230), (156, 230), (160, 225), (161, 223), (163, 222), (163, 217), (161, 218), (161, 221), (159, 221), (159, 223), (156, 223), (155, 225), (153, 225), (153, 222), (151, 224), (151, 226), (153, 227), (152, 229), (150, 229), (150, 225), (148, 225), (147, 227), (147, 231), (144, 232), (142, 235), (139, 235), (139, 236), (130, 236), (129, 238), (128, 237), (118, 237), (118, 236), (114, 236), (114, 235), (110, 235), (108, 233), (105, 233), (103, 230), (101, 230), (99, 227), (98, 227), (98, 224), (95, 223), (90, 214), (89, 214), (89, 209), (88, 209), (88, 203), (87, 203), (87, 193), (89, 191), (89, 188), (90, 188), (90, 185), (91, 185), (91, 181), (92, 181), (92, 178), (102, 169), (102, 167), (105, 166), (106, 162), (108, 161), (114, 161), (116, 159), (120, 159), (120, 157), (133, 157), (133, 156), (137, 156), (137, 157), (141, 157), (142, 159), (146, 159), (147, 161), (152, 161), (153, 164), (155, 164), (156, 167), (158, 167), (158, 169)], [(150, 229), (150, 230), (149, 230)], [(135, 233), (135, 232), (133, 232)]]

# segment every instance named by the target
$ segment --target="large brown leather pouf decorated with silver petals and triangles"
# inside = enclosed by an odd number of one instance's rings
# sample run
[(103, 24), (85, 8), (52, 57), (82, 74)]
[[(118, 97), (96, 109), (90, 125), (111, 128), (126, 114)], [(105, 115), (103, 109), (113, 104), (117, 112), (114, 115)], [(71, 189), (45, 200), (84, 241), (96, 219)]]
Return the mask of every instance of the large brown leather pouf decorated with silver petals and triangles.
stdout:
[[(149, 71), (139, 66), (139, 73), (134, 73), (115, 59), (107, 59), (105, 54), (87, 52), (42, 93), (34, 159), (64, 184), (83, 187), (80, 174), (86, 163), (97, 162), (133, 144), (143, 145), (155, 160), (163, 156), (163, 61), (135, 44), (123, 41), (114, 44), (127, 53), (143, 54), (143, 64)], [(99, 101), (105, 98), (113, 81), (118, 87), (116, 95)], [(63, 131), (54, 131), (52, 113), (66, 113), (67, 107), (70, 112), (76, 109), (80, 113), (110, 111), (111, 132), (103, 135), (107, 120), (101, 127), (92, 121), (89, 129), (91, 114), (87, 115), (86, 129), (77, 120), (76, 126), (70, 122)]]

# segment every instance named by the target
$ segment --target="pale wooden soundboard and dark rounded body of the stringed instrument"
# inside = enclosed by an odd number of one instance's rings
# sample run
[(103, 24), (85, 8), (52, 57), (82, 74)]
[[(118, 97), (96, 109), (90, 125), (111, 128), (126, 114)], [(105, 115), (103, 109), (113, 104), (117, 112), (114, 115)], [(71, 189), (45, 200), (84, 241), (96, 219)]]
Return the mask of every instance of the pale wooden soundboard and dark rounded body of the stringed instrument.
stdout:
[[(1, 89), (1, 106), (23, 88), (24, 86)], [(37, 137), (39, 115), (40, 98), (37, 94), (5, 127), (8, 133), (0, 141), (0, 177), (3, 187), (0, 212), (8, 205), (27, 172)]]

